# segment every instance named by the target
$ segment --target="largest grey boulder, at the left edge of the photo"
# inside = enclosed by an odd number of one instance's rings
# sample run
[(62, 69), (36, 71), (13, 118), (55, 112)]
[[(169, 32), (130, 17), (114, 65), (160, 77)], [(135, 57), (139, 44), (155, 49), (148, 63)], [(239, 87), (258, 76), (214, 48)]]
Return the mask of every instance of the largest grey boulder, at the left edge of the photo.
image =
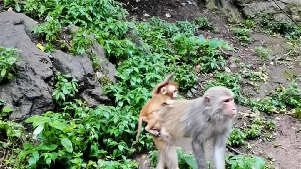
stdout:
[(54, 108), (51, 97), (53, 66), (47, 54), (31, 41), (33, 26), (37, 26), (35, 21), (24, 14), (0, 13), (0, 46), (17, 48), (21, 58), (16, 65), (19, 76), (0, 87), (0, 98), (14, 109), (11, 120), (22, 121)]

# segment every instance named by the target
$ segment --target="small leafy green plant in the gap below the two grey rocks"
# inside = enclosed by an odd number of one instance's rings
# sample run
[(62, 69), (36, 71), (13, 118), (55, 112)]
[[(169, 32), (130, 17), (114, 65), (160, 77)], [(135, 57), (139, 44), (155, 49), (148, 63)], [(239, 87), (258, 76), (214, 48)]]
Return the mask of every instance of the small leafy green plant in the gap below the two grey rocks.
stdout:
[(71, 78), (70, 74), (61, 75), (61, 72), (55, 74), (57, 83), (54, 85), (55, 89), (52, 93), (52, 97), (56, 100), (58, 105), (63, 106), (69, 97), (74, 97), (75, 93), (78, 92), (78, 80), (72, 79), (68, 81), (68, 78)]

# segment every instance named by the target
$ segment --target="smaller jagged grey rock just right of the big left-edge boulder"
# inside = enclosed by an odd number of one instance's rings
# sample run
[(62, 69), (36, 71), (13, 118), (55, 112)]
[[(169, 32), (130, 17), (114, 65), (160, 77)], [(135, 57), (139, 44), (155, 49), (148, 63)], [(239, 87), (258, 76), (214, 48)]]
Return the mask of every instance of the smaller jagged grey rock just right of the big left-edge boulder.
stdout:
[(51, 53), (53, 66), (63, 74), (68, 74), (79, 80), (80, 97), (84, 99), (88, 106), (96, 107), (99, 104), (110, 105), (109, 98), (102, 94), (102, 86), (99, 83), (92, 62), (88, 54), (71, 55), (55, 50)]

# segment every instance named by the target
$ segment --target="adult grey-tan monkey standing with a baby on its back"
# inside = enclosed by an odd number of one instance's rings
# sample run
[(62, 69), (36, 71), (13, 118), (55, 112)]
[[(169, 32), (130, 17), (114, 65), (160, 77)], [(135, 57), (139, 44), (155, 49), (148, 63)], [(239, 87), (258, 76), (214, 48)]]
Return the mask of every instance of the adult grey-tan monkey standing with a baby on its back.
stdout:
[(161, 136), (154, 137), (158, 147), (156, 169), (178, 169), (175, 141), (192, 138), (192, 149), (199, 169), (206, 169), (204, 144), (213, 138), (213, 161), (216, 169), (225, 169), (225, 146), (236, 114), (231, 90), (216, 86), (209, 88), (203, 97), (194, 100), (175, 100), (162, 106), (157, 115)]

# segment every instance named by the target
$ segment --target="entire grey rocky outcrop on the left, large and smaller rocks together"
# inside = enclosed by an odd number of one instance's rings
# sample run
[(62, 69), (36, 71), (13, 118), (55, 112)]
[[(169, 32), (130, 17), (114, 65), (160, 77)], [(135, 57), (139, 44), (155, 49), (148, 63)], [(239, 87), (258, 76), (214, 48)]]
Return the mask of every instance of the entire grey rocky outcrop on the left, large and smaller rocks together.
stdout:
[(70, 73), (79, 80), (79, 97), (88, 106), (111, 104), (108, 97), (102, 94), (103, 87), (98, 81), (98, 77), (106, 76), (116, 82), (115, 66), (107, 60), (104, 49), (94, 42), (93, 53), (104, 60), (101, 68), (96, 70), (97, 77), (88, 54), (73, 56), (55, 50), (48, 55), (39, 50), (32, 41), (37, 36), (31, 33), (31, 28), (37, 25), (24, 14), (7, 11), (0, 13), (0, 46), (17, 48), (21, 58), (16, 65), (18, 77), (8, 84), (0, 84), (0, 99), (14, 109), (10, 118), (22, 121), (54, 109), (51, 94), (56, 70), (63, 74)]

